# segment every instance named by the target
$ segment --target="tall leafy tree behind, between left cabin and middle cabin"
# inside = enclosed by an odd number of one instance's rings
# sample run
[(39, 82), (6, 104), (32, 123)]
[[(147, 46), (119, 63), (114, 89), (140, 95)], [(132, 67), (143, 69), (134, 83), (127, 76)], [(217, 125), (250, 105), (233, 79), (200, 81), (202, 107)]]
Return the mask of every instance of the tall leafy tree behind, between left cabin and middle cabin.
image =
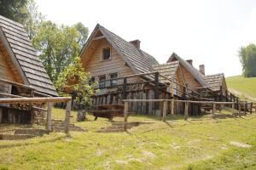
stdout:
[(82, 42), (87, 36), (88, 29), (80, 23), (74, 26), (57, 26), (52, 21), (44, 21), (41, 24), (32, 44), (38, 49), (53, 82), (56, 82), (61, 71), (73, 62), (73, 56), (79, 55)]

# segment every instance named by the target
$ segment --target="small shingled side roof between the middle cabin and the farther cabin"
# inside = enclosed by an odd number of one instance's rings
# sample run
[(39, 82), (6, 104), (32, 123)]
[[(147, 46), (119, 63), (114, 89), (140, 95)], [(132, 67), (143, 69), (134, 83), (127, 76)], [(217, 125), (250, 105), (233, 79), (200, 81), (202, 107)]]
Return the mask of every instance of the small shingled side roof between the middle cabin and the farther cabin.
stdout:
[[(179, 61), (172, 61), (166, 64), (153, 65), (154, 71), (158, 71), (160, 75), (172, 79), (177, 71)], [(164, 77), (159, 77), (160, 82), (170, 82)]]

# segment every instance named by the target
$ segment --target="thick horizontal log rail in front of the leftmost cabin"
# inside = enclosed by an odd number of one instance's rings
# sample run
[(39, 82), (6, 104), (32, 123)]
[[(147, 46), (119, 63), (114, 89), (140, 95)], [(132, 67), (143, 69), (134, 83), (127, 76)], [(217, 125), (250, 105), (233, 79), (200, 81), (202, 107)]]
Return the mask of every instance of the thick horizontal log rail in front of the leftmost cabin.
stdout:
[(0, 104), (66, 102), (70, 97), (0, 99)]

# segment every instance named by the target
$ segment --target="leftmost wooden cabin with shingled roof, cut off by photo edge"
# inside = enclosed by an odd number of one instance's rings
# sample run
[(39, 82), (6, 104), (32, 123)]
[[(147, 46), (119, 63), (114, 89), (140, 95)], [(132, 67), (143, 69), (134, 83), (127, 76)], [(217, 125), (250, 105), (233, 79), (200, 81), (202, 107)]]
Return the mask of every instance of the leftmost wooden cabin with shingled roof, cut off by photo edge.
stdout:
[[(0, 15), (0, 98), (57, 95), (24, 27)], [(0, 123), (30, 123), (36, 113), (32, 105), (0, 104)]]

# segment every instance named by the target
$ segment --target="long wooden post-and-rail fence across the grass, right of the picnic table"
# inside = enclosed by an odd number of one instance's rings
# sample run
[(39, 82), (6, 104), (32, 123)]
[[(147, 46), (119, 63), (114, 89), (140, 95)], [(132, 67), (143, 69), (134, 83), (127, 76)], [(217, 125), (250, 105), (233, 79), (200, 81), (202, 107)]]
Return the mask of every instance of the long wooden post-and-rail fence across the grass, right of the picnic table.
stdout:
[[(208, 104), (212, 105), (212, 117), (214, 118), (216, 113), (216, 105), (232, 105), (232, 114), (234, 115), (236, 113), (235, 105), (236, 102), (215, 102), (215, 101), (192, 101), (192, 100), (175, 100), (175, 99), (124, 99), (125, 102), (125, 109), (124, 109), (124, 129), (127, 130), (127, 122), (128, 122), (128, 108), (129, 108), (129, 102), (163, 102), (163, 112), (162, 112), (162, 121), (166, 122), (166, 115), (167, 115), (167, 105), (168, 102), (171, 101), (171, 114), (174, 115), (173, 111), (173, 104), (174, 102), (177, 103), (184, 103), (184, 120), (187, 120), (189, 118), (189, 104)], [(247, 114), (246, 109), (247, 102), (240, 102), (238, 105), (238, 115), (241, 116), (241, 105), (244, 106), (244, 115)], [(250, 103), (250, 113), (253, 113), (253, 108), (256, 111), (256, 105), (253, 107), (253, 103)]]

